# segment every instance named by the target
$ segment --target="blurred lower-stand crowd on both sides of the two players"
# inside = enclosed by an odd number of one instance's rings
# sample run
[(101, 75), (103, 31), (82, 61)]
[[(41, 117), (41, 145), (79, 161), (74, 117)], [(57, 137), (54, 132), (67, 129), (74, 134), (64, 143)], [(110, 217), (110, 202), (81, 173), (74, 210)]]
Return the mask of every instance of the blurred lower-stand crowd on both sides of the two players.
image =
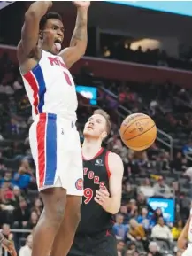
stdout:
[[(80, 80), (79, 84), (85, 85), (99, 81), (98, 105), (111, 114), (112, 123), (104, 146), (117, 152), (124, 162), (122, 206), (114, 225), (119, 256), (176, 255), (175, 241), (190, 208), (188, 176), (192, 179), (192, 170), (186, 152), (192, 147), (188, 118), (191, 92), (168, 82), (155, 88), (147, 84), (104, 81), (95, 78), (85, 67), (75, 77), (77, 83)], [(103, 84), (107, 90), (102, 89)], [(79, 104), (77, 126), (82, 139), (83, 124), (94, 106), (81, 97)], [(159, 128), (173, 137), (183, 133), (181, 139), (174, 137), (173, 156), (160, 144), (153, 144), (148, 151), (128, 150), (119, 138), (119, 105), (132, 112), (147, 112)], [(31, 232), (42, 212), (42, 201), (36, 190), (35, 165), (28, 144), (31, 108), (18, 66), (7, 56), (0, 57), (0, 120), (0, 225), (4, 236), (15, 241), (19, 256), (30, 256)], [(175, 223), (167, 221), (161, 208), (151, 208), (148, 198), (173, 198)]]

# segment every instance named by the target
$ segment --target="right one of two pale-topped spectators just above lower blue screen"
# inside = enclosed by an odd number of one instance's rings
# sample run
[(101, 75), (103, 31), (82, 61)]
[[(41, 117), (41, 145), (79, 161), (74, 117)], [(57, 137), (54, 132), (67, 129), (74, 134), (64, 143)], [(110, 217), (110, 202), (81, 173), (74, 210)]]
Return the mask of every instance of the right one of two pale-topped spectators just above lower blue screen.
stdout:
[(164, 178), (158, 178), (158, 182), (154, 185), (154, 196), (162, 198), (171, 198), (173, 193), (168, 185), (165, 184)]

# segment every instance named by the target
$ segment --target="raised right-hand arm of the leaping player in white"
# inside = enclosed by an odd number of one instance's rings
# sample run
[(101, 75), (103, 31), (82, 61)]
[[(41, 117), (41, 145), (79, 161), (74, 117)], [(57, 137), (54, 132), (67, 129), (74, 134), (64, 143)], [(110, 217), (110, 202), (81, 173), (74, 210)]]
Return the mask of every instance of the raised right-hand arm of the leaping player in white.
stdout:
[(78, 61), (84, 54), (88, 43), (88, 7), (89, 1), (73, 1), (77, 6), (77, 19), (73, 31), (70, 46), (60, 52), (59, 55), (69, 68)]

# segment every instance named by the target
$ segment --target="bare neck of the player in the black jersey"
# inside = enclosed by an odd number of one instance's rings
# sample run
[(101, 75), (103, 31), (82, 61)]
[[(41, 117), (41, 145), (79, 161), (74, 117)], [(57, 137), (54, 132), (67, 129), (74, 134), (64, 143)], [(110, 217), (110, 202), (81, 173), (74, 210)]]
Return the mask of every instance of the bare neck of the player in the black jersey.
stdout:
[(102, 147), (100, 140), (84, 139), (82, 144), (82, 154), (86, 159), (92, 158)]

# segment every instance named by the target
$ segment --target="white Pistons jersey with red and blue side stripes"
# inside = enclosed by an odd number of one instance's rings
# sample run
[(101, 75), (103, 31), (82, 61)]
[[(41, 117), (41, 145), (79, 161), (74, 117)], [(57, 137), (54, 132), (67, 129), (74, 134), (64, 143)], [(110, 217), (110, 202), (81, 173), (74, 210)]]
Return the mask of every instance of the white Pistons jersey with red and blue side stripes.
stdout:
[(39, 63), (21, 76), (32, 105), (33, 119), (43, 112), (76, 120), (78, 102), (75, 85), (60, 56), (42, 50)]

